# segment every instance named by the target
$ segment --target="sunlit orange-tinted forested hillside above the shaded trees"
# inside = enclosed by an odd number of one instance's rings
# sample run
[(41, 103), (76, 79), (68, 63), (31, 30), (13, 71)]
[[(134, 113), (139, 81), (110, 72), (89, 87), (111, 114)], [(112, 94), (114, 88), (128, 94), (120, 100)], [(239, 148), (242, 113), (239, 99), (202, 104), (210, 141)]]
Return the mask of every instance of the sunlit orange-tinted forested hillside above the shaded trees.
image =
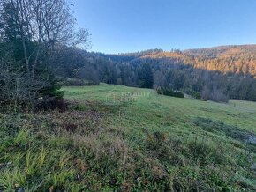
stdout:
[(180, 63), (203, 70), (256, 75), (256, 45), (221, 46), (184, 51), (152, 51), (140, 58), (177, 59)]

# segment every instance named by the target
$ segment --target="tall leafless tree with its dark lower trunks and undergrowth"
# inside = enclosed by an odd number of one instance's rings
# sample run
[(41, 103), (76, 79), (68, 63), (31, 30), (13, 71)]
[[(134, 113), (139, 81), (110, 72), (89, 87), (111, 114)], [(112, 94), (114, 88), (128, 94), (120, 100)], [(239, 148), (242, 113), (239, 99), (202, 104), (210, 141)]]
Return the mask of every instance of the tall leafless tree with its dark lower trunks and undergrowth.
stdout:
[(8, 94), (3, 98), (38, 98), (37, 93), (51, 85), (49, 67), (56, 61), (52, 59), (56, 49), (87, 48), (89, 33), (86, 29), (75, 30), (75, 26), (65, 0), (2, 0), (0, 44), (4, 51), (0, 56), (10, 58), (1, 63), (0, 88)]

